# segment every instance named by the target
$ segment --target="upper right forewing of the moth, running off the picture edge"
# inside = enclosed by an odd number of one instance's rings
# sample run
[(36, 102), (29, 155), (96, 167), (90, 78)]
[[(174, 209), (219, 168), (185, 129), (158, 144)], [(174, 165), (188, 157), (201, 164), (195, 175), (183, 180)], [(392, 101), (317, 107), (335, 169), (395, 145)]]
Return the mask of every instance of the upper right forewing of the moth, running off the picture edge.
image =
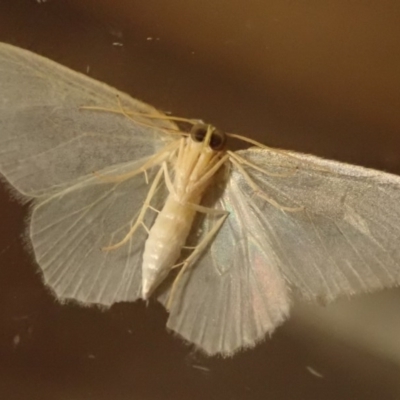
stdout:
[(292, 152), (237, 154), (265, 171), (243, 165), (269, 200), (233, 166), (270, 256), (302, 297), (331, 301), (400, 283), (398, 176)]

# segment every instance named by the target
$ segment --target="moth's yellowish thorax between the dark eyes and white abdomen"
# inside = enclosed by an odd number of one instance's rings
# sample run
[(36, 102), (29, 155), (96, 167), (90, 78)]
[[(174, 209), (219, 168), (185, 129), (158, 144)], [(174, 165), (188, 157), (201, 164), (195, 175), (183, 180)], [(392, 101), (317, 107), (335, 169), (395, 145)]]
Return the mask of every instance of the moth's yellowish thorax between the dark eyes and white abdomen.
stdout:
[(206, 143), (196, 142), (190, 136), (181, 139), (174, 166), (174, 189), (179, 201), (200, 201), (214, 175), (211, 170), (222, 154), (222, 151), (213, 150)]

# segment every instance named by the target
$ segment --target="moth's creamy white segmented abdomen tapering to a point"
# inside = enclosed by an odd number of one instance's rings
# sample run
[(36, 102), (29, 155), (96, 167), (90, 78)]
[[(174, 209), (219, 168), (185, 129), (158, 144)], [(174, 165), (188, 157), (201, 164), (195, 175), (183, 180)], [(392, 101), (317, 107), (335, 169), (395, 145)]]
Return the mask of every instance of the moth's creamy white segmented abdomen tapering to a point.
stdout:
[(142, 298), (148, 299), (176, 264), (190, 232), (195, 211), (172, 196), (156, 218), (147, 238), (142, 264)]

